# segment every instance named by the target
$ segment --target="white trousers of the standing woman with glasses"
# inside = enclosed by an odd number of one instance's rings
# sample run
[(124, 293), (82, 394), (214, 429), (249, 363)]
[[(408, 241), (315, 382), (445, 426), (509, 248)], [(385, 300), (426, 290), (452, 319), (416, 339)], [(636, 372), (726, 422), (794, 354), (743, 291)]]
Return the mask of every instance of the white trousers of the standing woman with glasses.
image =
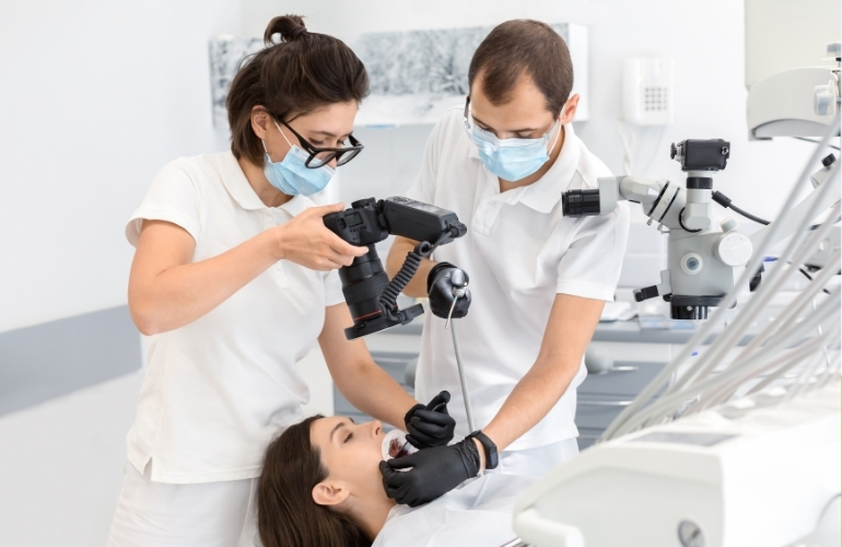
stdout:
[(253, 547), (257, 478), (168, 485), (126, 463), (108, 547)]

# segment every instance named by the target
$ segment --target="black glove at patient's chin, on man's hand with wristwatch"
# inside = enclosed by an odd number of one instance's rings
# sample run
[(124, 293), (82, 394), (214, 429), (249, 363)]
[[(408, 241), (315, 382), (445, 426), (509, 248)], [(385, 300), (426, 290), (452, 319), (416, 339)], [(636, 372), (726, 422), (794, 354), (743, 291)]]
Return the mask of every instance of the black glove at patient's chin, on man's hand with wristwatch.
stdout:
[[(395, 470), (408, 467), (412, 468)], [(433, 501), (478, 473), (479, 450), (473, 439), (381, 462), (386, 496), (411, 508)]]

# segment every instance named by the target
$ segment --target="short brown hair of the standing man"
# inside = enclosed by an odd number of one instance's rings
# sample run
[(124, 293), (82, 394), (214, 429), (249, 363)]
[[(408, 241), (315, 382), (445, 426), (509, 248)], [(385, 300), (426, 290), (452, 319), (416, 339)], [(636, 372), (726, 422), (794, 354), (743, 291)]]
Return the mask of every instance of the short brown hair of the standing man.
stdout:
[(494, 27), (473, 53), (468, 84), (482, 75), (482, 93), (494, 105), (511, 101), (522, 75), (527, 75), (558, 115), (573, 89), (573, 61), (564, 39), (548, 24), (529, 19)]

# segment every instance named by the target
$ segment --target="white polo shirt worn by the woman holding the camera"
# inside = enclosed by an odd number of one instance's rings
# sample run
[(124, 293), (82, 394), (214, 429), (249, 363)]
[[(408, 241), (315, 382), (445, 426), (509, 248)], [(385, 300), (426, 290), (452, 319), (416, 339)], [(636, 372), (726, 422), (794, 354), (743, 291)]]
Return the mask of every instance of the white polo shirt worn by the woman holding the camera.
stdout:
[[(196, 240), (200, 261), (331, 196), (267, 207), (231, 152), (182, 158), (152, 181), (126, 236), (137, 244), (142, 219), (173, 222)], [(129, 462), (139, 473), (151, 462), (159, 482), (257, 477), (268, 443), (303, 418), (309, 394), (296, 363), (316, 342), (325, 306), (340, 302), (336, 271), (281, 260), (204, 316), (152, 336)]]

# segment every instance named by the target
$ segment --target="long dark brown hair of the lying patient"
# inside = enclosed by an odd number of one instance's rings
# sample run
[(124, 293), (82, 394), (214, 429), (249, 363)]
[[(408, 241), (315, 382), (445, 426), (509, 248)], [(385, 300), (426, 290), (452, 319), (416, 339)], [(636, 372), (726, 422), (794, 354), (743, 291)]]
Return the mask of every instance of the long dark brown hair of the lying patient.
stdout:
[(349, 516), (313, 501), (327, 478), (319, 450), (309, 441), (313, 416), (291, 426), (266, 451), (257, 485), (257, 529), (264, 547), (371, 547)]

